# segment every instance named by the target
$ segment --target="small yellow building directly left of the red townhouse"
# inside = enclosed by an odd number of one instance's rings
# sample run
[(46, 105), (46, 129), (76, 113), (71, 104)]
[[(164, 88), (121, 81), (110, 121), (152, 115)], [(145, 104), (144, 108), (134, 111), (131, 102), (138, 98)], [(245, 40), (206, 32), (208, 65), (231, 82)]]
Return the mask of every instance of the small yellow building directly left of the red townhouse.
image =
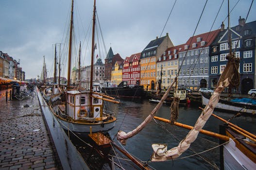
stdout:
[(119, 85), (122, 82), (122, 68), (123, 61), (116, 61), (114, 69), (112, 69), (111, 74), (111, 82)]

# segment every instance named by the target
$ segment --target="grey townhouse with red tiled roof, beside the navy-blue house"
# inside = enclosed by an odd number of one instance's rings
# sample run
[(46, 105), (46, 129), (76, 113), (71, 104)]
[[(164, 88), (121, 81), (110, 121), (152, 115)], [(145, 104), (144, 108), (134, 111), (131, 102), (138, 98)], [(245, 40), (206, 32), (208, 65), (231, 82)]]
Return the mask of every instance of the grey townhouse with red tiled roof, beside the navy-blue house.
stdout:
[(220, 30), (190, 37), (179, 51), (178, 84), (199, 90), (209, 86), (209, 46)]

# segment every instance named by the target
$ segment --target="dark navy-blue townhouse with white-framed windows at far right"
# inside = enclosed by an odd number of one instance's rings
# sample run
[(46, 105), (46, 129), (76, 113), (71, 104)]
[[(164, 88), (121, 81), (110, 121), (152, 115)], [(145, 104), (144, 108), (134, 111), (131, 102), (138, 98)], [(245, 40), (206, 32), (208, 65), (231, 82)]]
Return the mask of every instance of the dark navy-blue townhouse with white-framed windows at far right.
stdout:
[[(232, 89), (233, 93), (247, 94), (256, 88), (256, 21), (245, 23), (244, 18), (239, 18), (239, 24), (230, 28), (232, 52), (240, 58), (240, 85)], [(228, 29), (222, 23), (221, 32), (210, 46), (210, 84), (214, 88), (227, 64), (226, 56), (229, 54)]]

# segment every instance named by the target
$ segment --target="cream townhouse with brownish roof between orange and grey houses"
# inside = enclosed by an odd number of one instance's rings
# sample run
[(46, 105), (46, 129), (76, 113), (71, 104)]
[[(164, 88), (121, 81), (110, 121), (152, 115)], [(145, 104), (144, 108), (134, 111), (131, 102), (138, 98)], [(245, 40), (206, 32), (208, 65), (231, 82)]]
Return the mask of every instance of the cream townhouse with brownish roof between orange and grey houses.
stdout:
[(179, 51), (182, 51), (183, 48), (184, 45), (168, 48), (156, 62), (156, 82), (161, 81), (161, 89), (168, 88), (174, 81), (178, 73)]

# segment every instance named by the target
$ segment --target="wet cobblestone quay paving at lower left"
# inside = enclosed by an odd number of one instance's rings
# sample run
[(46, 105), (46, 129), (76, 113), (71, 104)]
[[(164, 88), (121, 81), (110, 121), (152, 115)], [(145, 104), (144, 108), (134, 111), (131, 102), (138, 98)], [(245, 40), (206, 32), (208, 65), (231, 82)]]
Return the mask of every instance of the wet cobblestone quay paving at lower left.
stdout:
[(61, 169), (53, 149), (37, 96), (0, 99), (0, 170)]

